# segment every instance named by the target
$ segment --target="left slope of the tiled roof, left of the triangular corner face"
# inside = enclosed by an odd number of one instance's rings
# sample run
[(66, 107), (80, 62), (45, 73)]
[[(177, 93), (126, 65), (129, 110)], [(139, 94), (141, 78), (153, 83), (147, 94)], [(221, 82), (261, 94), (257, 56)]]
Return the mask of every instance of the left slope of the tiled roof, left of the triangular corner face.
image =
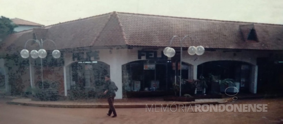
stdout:
[[(22, 50), (27, 40), (34, 39), (34, 34), (38, 40), (53, 40), (57, 49), (91, 46), (107, 24), (110, 15), (111, 13), (108, 13), (14, 33), (3, 41), (1, 51), (5, 51), (11, 45), (20, 48), (18, 50)], [(22, 37), (22, 35), (25, 35), (25, 37)], [(27, 48), (30, 47), (31, 43), (27, 44)], [(43, 47), (46, 50), (55, 49), (52, 42), (44, 42)], [(15, 50), (10, 51), (13, 52)]]

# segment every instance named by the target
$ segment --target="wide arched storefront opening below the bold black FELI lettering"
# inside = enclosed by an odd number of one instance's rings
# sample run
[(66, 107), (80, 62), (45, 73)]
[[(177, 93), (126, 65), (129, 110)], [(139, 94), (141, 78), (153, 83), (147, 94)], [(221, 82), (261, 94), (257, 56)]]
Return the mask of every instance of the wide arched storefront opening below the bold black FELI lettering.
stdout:
[[(188, 79), (190, 65), (182, 63), (182, 78)], [(153, 97), (170, 94), (178, 82), (180, 66), (170, 60), (139, 60), (122, 65), (123, 97)]]

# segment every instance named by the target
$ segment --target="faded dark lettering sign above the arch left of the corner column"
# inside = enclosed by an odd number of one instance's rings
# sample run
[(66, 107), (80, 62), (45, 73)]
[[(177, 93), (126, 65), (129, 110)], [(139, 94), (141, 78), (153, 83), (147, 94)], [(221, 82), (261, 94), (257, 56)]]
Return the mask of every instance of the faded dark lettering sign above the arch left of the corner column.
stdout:
[(73, 61), (77, 58), (77, 61), (85, 60), (90, 61), (91, 57), (94, 57), (94, 60), (99, 60), (99, 51), (86, 52), (86, 58), (84, 57), (84, 52), (73, 53)]

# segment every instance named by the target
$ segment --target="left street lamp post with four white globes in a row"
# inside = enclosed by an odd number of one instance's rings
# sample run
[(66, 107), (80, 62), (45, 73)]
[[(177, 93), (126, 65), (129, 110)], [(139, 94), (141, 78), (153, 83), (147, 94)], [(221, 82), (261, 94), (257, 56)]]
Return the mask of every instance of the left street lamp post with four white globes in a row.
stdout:
[[(27, 42), (29, 42), (29, 41), (35, 41), (35, 42), (37, 42), (37, 43), (39, 44), (40, 49), (39, 49), (38, 51), (37, 51), (37, 50), (31, 50), (31, 52), (29, 53), (29, 50), (26, 49)], [(29, 57), (29, 55), (30, 55), (31, 58), (33, 58), (33, 59), (36, 59), (36, 58), (40, 57), (42, 88), (43, 88), (42, 59), (47, 56), (46, 50), (43, 49), (43, 43), (44, 43), (45, 41), (51, 41), (51, 42), (54, 44), (55, 50), (53, 50), (52, 56), (53, 56), (55, 59), (60, 58), (61, 52), (60, 52), (59, 50), (57, 50), (56, 44), (55, 44), (55, 42), (52, 41), (52, 40), (44, 40), (44, 41), (42, 41), (42, 39), (41, 39), (41, 42), (40, 42), (39, 40), (34, 40), (34, 39), (27, 40), (27, 42), (25, 43), (25, 49), (23, 49), (23, 50), (21, 51), (21, 57), (23, 57), (24, 59), (27, 59), (27, 58)]]

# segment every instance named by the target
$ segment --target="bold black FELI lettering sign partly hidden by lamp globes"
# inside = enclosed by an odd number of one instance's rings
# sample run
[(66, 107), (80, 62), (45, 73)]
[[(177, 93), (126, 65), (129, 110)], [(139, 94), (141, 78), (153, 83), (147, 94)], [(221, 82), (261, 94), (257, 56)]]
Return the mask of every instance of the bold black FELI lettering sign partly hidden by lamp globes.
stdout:
[(161, 51), (161, 57), (157, 57), (157, 51), (138, 51), (138, 59), (142, 59), (142, 56), (145, 56), (146, 59), (167, 59), (167, 57)]

